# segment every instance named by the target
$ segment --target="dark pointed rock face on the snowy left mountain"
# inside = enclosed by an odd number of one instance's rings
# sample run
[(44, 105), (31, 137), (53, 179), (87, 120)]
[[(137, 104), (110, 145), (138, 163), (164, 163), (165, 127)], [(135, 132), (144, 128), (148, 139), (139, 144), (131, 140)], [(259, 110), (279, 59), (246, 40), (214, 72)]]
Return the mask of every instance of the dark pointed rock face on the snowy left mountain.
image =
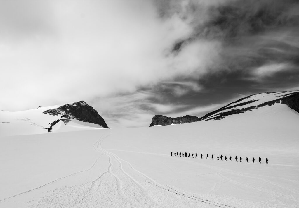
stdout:
[(100, 126), (103, 126), (106, 129), (109, 129), (105, 120), (98, 114), (98, 112), (84, 101), (78, 101), (75, 103), (62, 105), (58, 108), (53, 108), (44, 111), (43, 113), (48, 113), (51, 115), (62, 115), (62, 119), (58, 119), (51, 123), (48, 132), (51, 131), (52, 126), (54, 126), (60, 120), (62, 120), (64, 123), (67, 123), (68, 121), (70, 121), (70, 119), (77, 119), (83, 122), (95, 123)]

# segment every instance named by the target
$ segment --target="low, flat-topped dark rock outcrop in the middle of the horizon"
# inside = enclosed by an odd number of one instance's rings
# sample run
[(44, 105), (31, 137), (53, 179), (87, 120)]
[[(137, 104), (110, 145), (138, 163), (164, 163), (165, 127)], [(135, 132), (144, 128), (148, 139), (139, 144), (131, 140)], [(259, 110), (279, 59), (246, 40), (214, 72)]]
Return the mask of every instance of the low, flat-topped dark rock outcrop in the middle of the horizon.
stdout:
[(170, 124), (180, 124), (180, 123), (191, 123), (198, 121), (199, 118), (196, 116), (183, 116), (183, 117), (166, 117), (162, 115), (155, 115), (152, 117), (152, 123), (149, 126), (154, 126), (154, 125), (161, 125), (161, 126), (167, 126)]

